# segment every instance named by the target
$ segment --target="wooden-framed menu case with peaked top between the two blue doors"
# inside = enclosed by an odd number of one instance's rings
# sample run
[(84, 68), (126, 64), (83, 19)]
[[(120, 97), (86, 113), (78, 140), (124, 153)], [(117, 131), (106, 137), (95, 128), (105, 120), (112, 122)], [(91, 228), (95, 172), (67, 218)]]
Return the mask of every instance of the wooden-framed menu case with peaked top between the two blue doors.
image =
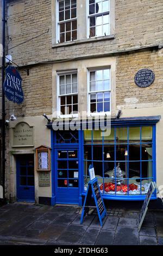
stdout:
[(43, 145), (36, 148), (36, 169), (37, 171), (51, 170), (51, 148)]

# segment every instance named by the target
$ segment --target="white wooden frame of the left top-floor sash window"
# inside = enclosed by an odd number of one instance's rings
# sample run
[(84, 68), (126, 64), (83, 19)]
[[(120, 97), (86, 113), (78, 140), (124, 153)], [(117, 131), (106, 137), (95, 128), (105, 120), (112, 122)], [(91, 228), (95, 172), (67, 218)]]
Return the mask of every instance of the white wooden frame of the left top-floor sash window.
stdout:
[[(72, 18), (69, 20), (64, 20), (64, 21), (59, 21), (59, 2), (61, 0), (56, 0), (56, 44), (60, 43), (60, 30), (59, 30), (59, 25), (61, 23), (67, 23), (67, 22), (71, 22), (71, 21), (77, 21), (77, 39), (73, 40), (73, 41), (77, 41), (78, 40), (78, 4), (77, 4), (77, 17), (76, 18)], [(78, 2), (78, 1), (77, 1)], [(72, 38), (70, 41), (65, 41), (62, 42), (61, 44), (66, 44), (66, 42), (72, 42)]]

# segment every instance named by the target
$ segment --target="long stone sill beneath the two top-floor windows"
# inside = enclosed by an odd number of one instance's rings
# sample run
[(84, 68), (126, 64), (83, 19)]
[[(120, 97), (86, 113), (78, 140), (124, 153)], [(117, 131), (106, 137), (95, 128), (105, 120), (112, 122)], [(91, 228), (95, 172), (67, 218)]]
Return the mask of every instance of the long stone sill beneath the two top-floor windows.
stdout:
[(82, 40), (76, 40), (71, 42), (61, 42), (59, 44), (52, 44), (52, 48), (58, 48), (58, 47), (66, 47), (71, 45), (79, 45), (79, 44), (87, 44), (89, 42), (99, 42), (99, 41), (105, 41), (105, 40), (111, 40), (115, 39), (115, 35), (104, 35), (104, 36), (98, 36), (95, 38), (88, 38), (88, 39), (82, 39)]

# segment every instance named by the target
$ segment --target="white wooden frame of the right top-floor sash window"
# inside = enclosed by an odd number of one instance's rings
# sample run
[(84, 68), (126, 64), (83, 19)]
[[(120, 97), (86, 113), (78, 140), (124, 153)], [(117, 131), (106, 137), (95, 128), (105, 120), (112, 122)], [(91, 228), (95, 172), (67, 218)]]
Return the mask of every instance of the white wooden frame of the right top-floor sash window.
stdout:
[[(109, 0), (109, 11), (104, 11), (102, 13), (98, 13), (98, 14), (89, 14), (89, 0), (87, 0), (87, 38), (90, 38), (90, 17), (97, 17), (97, 16), (102, 16), (102, 15), (105, 15), (105, 14), (108, 14), (109, 13), (109, 34), (111, 34), (111, 25), (110, 25), (110, 1), (112, 0)], [(103, 26), (103, 25), (102, 25)], [(96, 26), (95, 26), (96, 27)], [(95, 35), (95, 36), (91, 36), (91, 38), (98, 38), (98, 37), (101, 37), (101, 36), (105, 36), (105, 35)]]

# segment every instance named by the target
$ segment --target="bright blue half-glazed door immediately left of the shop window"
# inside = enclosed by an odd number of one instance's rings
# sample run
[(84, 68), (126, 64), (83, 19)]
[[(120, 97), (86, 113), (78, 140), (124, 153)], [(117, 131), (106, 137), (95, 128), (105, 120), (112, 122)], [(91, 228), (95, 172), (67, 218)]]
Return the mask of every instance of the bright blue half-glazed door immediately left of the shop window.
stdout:
[(78, 149), (56, 150), (56, 203), (79, 203)]

